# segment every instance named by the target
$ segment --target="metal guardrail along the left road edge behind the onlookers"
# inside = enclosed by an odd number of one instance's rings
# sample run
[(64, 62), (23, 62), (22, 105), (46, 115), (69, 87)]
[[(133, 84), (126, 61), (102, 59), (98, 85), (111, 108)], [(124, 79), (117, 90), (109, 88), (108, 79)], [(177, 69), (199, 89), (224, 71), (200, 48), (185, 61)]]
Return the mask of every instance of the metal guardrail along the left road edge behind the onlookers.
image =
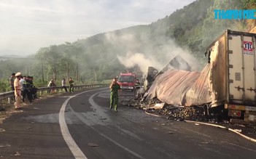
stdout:
[[(104, 86), (109, 86), (109, 85), (107, 85), (107, 84), (80, 85), (80, 86), (74, 86), (74, 90), (100, 88), (100, 87), (104, 87)], [(66, 86), (66, 88), (69, 89), (69, 86)], [(53, 90), (53, 89), (56, 90), (56, 91), (62, 91), (63, 86), (37, 88), (37, 94), (40, 94), (40, 96), (42, 96), (42, 94), (44, 94), (44, 93), (45, 94), (50, 94), (50, 91)], [(0, 100), (8, 99), (9, 103), (10, 103), (12, 97), (15, 97), (14, 91), (7, 91), (7, 92), (4, 92), (4, 93), (0, 93)]]

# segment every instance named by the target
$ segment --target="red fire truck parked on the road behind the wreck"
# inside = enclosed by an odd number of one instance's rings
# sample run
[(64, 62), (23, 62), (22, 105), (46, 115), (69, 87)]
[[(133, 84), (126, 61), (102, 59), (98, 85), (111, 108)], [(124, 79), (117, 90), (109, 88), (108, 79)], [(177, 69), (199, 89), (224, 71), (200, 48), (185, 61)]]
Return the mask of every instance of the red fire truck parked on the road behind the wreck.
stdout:
[(120, 73), (120, 76), (118, 78), (118, 83), (123, 90), (134, 91), (135, 81), (136, 75), (134, 73)]

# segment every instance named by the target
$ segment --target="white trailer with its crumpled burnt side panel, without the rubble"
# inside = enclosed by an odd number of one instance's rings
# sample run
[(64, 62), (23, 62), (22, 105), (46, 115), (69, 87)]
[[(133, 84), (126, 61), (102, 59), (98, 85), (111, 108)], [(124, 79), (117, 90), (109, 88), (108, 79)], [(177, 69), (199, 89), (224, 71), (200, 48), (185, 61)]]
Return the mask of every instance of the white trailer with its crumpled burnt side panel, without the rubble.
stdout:
[(168, 70), (158, 76), (147, 99), (171, 105), (225, 107), (228, 115), (256, 121), (255, 33), (226, 30), (207, 49), (198, 72)]

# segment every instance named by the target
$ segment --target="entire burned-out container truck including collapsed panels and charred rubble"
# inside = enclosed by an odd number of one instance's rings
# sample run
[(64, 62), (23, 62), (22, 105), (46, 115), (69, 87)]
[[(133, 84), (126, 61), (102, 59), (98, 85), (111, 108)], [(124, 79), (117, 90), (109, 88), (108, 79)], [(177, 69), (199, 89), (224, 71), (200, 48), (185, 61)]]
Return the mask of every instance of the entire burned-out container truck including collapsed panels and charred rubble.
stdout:
[(191, 71), (179, 55), (160, 71), (149, 68), (146, 93), (135, 105), (177, 120), (204, 116), (255, 123), (255, 38), (255, 33), (225, 30), (207, 49), (201, 72)]

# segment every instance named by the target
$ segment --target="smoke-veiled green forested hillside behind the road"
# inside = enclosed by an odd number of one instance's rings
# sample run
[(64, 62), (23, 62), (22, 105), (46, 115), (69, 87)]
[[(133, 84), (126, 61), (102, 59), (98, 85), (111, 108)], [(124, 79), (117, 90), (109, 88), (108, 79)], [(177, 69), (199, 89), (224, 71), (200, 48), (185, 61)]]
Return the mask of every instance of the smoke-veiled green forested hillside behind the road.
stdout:
[(1, 86), (18, 71), (39, 82), (67, 77), (77, 83), (100, 82), (128, 68), (160, 69), (177, 54), (185, 54), (194, 70), (200, 70), (206, 64), (206, 47), (225, 29), (246, 31), (255, 25), (254, 20), (215, 20), (214, 9), (255, 9), (255, 0), (197, 0), (149, 25), (41, 48), (22, 63), (1, 61)]

